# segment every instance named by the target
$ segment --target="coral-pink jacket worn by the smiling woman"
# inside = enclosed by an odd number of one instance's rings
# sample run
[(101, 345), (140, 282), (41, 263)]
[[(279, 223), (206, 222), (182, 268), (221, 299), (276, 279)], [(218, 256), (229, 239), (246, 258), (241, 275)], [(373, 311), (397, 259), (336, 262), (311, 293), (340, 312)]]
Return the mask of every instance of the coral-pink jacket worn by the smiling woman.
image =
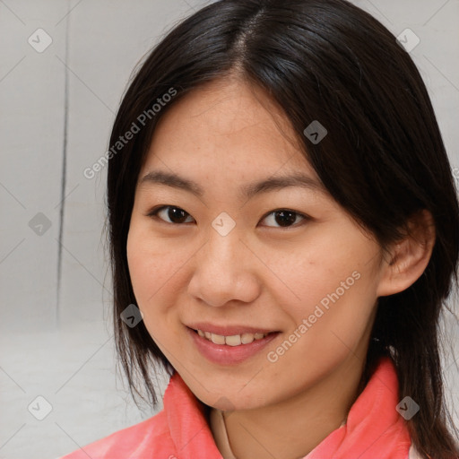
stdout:
[[(351, 406), (346, 424), (333, 430), (304, 459), (419, 459), (411, 447), (391, 359), (383, 357)], [(206, 405), (177, 372), (164, 408), (148, 420), (102, 438), (61, 459), (221, 459), (205, 418)], [(405, 408), (406, 405), (402, 405)]]

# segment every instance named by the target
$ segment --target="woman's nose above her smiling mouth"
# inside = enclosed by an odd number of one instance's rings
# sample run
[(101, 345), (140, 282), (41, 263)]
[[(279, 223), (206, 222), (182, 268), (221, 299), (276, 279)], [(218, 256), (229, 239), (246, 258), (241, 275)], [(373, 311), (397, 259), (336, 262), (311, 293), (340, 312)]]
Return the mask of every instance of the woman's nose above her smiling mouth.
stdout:
[(260, 294), (259, 265), (236, 230), (221, 236), (212, 229), (204, 247), (195, 254), (188, 293), (213, 307), (233, 301), (251, 303)]

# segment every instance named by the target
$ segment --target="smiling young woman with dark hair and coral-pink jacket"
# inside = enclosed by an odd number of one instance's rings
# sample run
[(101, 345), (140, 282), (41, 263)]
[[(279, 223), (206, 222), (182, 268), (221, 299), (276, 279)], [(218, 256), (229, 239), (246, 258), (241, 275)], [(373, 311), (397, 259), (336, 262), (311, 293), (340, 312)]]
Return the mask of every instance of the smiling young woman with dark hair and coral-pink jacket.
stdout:
[(117, 351), (152, 403), (168, 371), (164, 409), (65, 459), (459, 457), (437, 330), (458, 217), (420, 74), (368, 13), (194, 13), (108, 153)]

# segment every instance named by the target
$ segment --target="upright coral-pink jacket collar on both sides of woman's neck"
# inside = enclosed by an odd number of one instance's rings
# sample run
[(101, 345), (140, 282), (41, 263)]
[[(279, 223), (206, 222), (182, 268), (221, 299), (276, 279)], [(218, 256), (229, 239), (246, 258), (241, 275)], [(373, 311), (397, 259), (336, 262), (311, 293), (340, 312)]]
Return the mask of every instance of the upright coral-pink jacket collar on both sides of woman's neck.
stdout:
[[(394, 362), (381, 357), (352, 404), (346, 424), (333, 430), (304, 459), (406, 459), (411, 439), (406, 421), (396, 410), (398, 392)], [(209, 407), (195, 397), (177, 371), (163, 403), (180, 459), (221, 459), (209, 427)]]

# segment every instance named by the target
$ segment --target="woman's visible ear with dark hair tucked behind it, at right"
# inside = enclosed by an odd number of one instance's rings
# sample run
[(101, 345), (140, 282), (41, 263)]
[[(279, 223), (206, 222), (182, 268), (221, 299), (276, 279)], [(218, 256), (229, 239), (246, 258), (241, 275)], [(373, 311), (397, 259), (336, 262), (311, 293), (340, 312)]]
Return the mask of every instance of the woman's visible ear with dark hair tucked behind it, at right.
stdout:
[(435, 244), (435, 222), (427, 209), (415, 212), (408, 221), (406, 236), (390, 247), (377, 287), (377, 296), (385, 297), (408, 289), (427, 265)]

